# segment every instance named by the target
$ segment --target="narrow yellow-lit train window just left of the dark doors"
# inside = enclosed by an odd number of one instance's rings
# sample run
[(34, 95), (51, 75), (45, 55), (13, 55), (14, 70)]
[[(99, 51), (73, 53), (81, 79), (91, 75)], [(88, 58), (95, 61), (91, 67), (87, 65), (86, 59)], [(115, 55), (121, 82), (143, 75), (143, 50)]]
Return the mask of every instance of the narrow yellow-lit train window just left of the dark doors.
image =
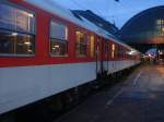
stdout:
[(90, 36), (90, 54), (91, 58), (95, 57), (95, 41), (94, 41), (94, 36)]

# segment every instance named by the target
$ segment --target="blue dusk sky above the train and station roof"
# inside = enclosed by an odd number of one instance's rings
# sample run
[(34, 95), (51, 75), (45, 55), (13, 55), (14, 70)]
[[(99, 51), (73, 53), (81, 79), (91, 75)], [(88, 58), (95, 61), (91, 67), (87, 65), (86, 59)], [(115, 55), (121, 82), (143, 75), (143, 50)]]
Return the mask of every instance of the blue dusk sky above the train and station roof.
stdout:
[(121, 27), (137, 13), (156, 5), (164, 5), (164, 0), (54, 0), (72, 10), (92, 10), (104, 19)]

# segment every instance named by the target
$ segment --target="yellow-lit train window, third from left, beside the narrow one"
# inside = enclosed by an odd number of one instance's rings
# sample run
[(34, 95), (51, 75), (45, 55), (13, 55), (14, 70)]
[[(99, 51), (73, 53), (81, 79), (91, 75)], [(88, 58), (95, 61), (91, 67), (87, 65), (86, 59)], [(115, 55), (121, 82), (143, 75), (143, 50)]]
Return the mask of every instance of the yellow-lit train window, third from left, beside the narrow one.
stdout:
[(87, 40), (86, 35), (82, 32), (75, 32), (77, 45), (75, 52), (77, 57), (86, 57), (87, 56)]

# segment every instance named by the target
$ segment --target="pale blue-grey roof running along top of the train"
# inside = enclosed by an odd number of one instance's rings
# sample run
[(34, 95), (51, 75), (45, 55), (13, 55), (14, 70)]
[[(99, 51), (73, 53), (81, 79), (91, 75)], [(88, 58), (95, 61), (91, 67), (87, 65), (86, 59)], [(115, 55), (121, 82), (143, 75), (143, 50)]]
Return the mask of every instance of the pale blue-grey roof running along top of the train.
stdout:
[[(81, 27), (84, 27), (104, 38), (112, 39), (113, 41), (127, 47), (130, 50), (134, 50), (128, 45), (121, 42), (120, 40), (116, 39), (114, 35), (109, 34), (108, 32), (104, 30), (103, 28), (96, 26), (95, 24), (91, 23), (86, 19), (82, 16), (74, 15), (69, 9), (66, 9), (59, 5), (57, 2), (52, 0), (25, 0), (27, 3), (31, 3), (39, 9), (48, 11), (52, 14), (58, 15), (61, 19), (68, 20)], [(137, 50), (136, 50), (137, 51)]]

